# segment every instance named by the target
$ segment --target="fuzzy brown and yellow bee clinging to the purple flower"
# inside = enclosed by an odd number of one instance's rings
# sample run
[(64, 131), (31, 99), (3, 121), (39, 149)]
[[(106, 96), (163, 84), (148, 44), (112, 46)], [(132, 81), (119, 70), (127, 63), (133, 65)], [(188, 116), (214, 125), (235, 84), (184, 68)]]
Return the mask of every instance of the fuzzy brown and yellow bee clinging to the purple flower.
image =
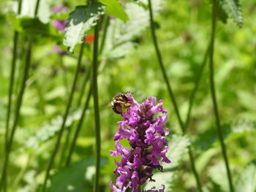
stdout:
[(128, 98), (128, 92), (125, 93), (117, 93), (116, 96), (113, 97), (113, 100), (110, 103), (110, 106), (113, 110), (113, 112), (116, 112), (117, 114), (121, 114), (123, 112), (123, 107), (127, 108), (129, 98)]

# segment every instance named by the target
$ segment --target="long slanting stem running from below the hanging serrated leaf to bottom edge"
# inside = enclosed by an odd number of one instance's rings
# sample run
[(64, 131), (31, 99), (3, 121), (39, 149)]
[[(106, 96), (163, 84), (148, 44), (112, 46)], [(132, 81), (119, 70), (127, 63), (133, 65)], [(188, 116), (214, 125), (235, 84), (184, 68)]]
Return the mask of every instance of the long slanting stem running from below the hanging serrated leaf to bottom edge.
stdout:
[(53, 153), (52, 153), (52, 155), (50, 157), (48, 168), (46, 170), (45, 180), (44, 180), (44, 183), (42, 185), (42, 192), (45, 192), (46, 184), (47, 184), (47, 181), (48, 181), (48, 177), (50, 176), (50, 169), (52, 168), (54, 159), (56, 157), (56, 154), (58, 153), (59, 145), (60, 145), (60, 142), (61, 142), (61, 137), (62, 137), (62, 134), (64, 132), (64, 128), (65, 128), (65, 124), (66, 124), (66, 121), (67, 121), (67, 117), (69, 115), (69, 110), (71, 108), (73, 96), (74, 96), (74, 93), (75, 93), (75, 87), (77, 85), (78, 76), (79, 76), (79, 72), (80, 72), (80, 66), (81, 66), (81, 61), (82, 61), (82, 56), (83, 56), (83, 46), (84, 46), (84, 43), (80, 47), (80, 53), (79, 53), (79, 58), (78, 58), (78, 65), (77, 65), (77, 68), (76, 68), (76, 71), (75, 71), (75, 77), (74, 77), (74, 80), (73, 80), (73, 83), (72, 83), (72, 89), (71, 89), (71, 92), (70, 92), (70, 95), (69, 95), (69, 99), (67, 101), (67, 108), (66, 108), (66, 111), (65, 111), (65, 114), (64, 114), (64, 118), (62, 120), (62, 124), (61, 124), (61, 128), (60, 128), (59, 135), (58, 135), (58, 138), (57, 138), (57, 142), (56, 142), (56, 145), (54, 147)]

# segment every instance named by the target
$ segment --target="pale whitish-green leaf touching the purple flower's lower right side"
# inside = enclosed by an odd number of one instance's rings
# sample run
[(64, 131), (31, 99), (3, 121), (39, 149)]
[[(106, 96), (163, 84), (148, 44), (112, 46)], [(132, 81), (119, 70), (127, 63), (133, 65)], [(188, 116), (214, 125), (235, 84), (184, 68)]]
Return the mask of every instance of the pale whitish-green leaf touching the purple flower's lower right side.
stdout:
[(184, 154), (187, 153), (187, 147), (190, 145), (190, 142), (187, 136), (173, 135), (168, 145), (169, 149), (166, 156), (172, 162), (170, 164), (163, 164), (164, 172), (156, 172), (152, 177), (156, 182), (146, 183), (146, 189), (154, 186), (161, 188), (161, 185), (165, 185), (168, 192), (172, 191), (172, 185), (176, 177), (176, 167), (181, 163)]

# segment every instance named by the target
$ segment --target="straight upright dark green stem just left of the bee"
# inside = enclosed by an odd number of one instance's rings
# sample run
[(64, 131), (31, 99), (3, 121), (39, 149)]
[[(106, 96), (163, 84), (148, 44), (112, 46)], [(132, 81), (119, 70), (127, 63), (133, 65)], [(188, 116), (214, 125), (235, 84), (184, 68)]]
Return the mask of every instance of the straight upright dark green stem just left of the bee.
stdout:
[(94, 192), (99, 192), (99, 166), (100, 166), (100, 123), (99, 123), (99, 101), (97, 85), (98, 68), (98, 44), (99, 44), (99, 22), (94, 28), (94, 53), (92, 62), (92, 95), (94, 97), (94, 120), (95, 120), (95, 142), (96, 142), (96, 172), (94, 181)]

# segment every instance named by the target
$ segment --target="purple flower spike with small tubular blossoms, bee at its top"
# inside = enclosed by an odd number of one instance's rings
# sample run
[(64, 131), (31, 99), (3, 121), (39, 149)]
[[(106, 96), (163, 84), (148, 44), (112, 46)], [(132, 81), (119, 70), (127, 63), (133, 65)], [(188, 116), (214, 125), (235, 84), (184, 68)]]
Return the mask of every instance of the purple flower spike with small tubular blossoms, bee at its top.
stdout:
[[(162, 108), (163, 101), (157, 104), (155, 97), (150, 97), (138, 104), (129, 94), (129, 107), (127, 112), (122, 112), (124, 120), (118, 122), (118, 131), (115, 134), (116, 151), (110, 151), (110, 155), (121, 155), (121, 162), (115, 160), (117, 168), (114, 174), (118, 174), (116, 185), (110, 183), (114, 192), (124, 192), (128, 188), (132, 192), (138, 191), (138, 186), (152, 179), (154, 169), (162, 172), (162, 162), (170, 163), (166, 157), (168, 145), (165, 136), (169, 130), (164, 129), (168, 117), (167, 111)], [(162, 113), (162, 115), (156, 115)], [(131, 148), (121, 145), (121, 139), (128, 139)], [(157, 191), (154, 188), (148, 191)], [(159, 192), (164, 192), (164, 188)]]

